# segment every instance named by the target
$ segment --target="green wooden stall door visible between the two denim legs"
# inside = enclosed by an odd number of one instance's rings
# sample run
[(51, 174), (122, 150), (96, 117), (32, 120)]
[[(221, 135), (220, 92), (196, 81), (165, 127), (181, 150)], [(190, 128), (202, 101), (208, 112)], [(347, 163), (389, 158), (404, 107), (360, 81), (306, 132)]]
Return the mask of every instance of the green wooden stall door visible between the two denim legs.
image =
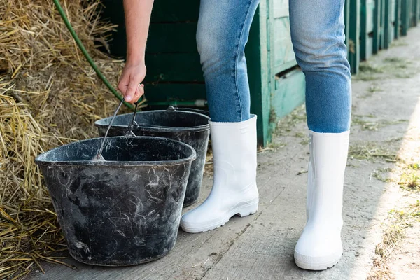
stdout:
[(251, 111), (258, 142), (269, 143), (277, 121), (304, 102), (304, 75), (296, 66), (287, 0), (263, 0), (246, 48)]

